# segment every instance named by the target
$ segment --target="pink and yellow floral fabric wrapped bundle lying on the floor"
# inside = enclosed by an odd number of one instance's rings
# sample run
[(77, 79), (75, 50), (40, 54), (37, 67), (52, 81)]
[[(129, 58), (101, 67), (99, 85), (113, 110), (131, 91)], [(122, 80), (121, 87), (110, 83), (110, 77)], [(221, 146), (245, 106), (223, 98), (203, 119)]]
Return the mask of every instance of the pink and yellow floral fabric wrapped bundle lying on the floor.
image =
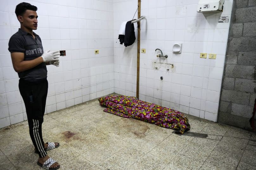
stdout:
[(144, 102), (136, 97), (106, 96), (99, 98), (99, 104), (107, 107), (103, 110), (104, 112), (179, 130), (181, 134), (190, 129), (188, 119), (184, 114), (154, 103)]

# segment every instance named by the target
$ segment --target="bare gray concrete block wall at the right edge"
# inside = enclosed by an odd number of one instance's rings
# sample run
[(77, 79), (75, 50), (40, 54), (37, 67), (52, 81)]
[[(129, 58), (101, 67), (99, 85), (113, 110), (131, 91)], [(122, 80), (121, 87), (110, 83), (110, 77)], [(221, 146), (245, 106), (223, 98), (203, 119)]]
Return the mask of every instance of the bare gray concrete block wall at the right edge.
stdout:
[(256, 0), (234, 0), (230, 21), (218, 122), (251, 130), (256, 98)]

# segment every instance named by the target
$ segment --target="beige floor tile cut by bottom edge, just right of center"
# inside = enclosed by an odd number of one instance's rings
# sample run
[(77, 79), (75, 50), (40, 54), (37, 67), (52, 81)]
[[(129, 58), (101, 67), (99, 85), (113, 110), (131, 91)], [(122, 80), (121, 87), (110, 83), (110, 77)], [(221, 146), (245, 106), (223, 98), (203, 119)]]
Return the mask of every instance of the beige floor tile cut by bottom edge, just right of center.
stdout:
[[(132, 168), (134, 169), (163, 169), (169, 164), (169, 162), (164, 161), (161, 158), (158, 158), (157, 156), (154, 156), (150, 153), (144, 155), (142, 158), (140, 158), (137, 162), (135, 162), (132, 165)], [(127, 169), (130, 169), (127, 168)]]

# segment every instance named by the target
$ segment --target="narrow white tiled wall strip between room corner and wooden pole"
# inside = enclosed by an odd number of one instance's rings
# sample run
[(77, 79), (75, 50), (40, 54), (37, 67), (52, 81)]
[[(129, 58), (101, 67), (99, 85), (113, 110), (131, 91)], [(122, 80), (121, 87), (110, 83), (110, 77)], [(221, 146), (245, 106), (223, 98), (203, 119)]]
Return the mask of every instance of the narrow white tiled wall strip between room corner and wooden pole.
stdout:
[[(134, 23), (136, 40), (131, 46), (125, 47), (118, 39), (119, 27), (123, 21), (132, 20), (137, 0), (115, 0), (114, 11), (114, 91), (126, 96), (136, 96), (137, 84), (137, 23)], [(134, 19), (137, 19), (136, 12)], [(142, 73), (142, 72), (140, 72)]]

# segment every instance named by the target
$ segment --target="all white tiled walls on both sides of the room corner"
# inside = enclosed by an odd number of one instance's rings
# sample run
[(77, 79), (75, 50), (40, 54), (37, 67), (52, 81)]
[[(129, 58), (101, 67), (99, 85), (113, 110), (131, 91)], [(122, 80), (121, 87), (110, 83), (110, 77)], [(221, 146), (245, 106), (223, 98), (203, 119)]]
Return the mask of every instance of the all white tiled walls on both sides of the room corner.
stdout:
[[(26, 120), (18, 91), (18, 76), (12, 68), (8, 41), (19, 28), (14, 13), (20, 0), (0, 0), (0, 127)], [(34, 0), (38, 29), (44, 49), (66, 50), (60, 67), (48, 66), (46, 112), (116, 92), (136, 96), (136, 42), (119, 44), (123, 21), (132, 19), (137, 0)], [(221, 79), (233, 0), (226, 0), (222, 13), (197, 13), (198, 0), (142, 0), (139, 98), (208, 120), (217, 120)], [(137, 18), (137, 12), (135, 17)], [(114, 39), (114, 40), (113, 40)], [(173, 54), (174, 43), (182, 53)], [(156, 57), (163, 50), (167, 59)], [(94, 50), (99, 49), (95, 55)], [(215, 53), (216, 60), (199, 58)], [(174, 64), (169, 71), (152, 62)], [(163, 76), (163, 80), (160, 80)]]

